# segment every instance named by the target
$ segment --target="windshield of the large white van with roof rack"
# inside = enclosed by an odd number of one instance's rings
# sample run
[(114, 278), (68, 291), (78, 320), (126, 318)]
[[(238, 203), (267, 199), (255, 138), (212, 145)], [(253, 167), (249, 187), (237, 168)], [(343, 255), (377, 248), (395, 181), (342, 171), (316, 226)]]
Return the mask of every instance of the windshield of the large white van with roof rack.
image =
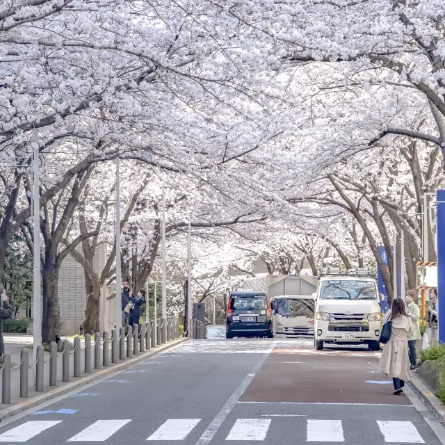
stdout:
[(329, 280), (321, 284), (322, 300), (375, 300), (373, 281)]

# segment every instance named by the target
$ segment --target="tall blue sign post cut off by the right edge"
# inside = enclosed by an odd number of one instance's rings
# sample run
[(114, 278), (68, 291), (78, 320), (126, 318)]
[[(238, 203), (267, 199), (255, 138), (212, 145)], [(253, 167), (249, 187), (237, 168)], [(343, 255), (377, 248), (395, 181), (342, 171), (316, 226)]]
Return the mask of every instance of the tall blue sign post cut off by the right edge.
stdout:
[(439, 342), (445, 341), (445, 190), (437, 190), (437, 297)]

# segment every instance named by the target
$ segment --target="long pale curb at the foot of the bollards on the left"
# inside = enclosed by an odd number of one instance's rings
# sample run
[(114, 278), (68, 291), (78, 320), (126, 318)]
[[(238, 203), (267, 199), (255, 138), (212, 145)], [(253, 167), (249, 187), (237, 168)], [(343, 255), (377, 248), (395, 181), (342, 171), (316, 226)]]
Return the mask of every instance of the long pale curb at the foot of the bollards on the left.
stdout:
[(26, 401), (16, 403), (15, 405), (0, 411), (0, 422), (2, 422), (5, 419), (8, 419), (8, 417), (20, 414), (21, 412), (29, 410), (30, 408), (33, 408), (37, 405), (40, 405), (47, 401), (51, 401), (56, 397), (63, 396), (64, 394), (74, 391), (75, 389), (79, 389), (79, 387), (82, 387), (83, 385), (88, 385), (92, 382), (95, 382), (95, 380), (100, 380), (108, 375), (114, 374), (119, 371), (124, 371), (125, 369), (131, 367), (131, 365), (136, 364), (137, 362), (140, 362), (143, 359), (147, 359), (147, 357), (161, 353), (187, 340), (188, 340), (187, 337), (185, 338), (183, 337), (169, 344), (159, 346), (159, 348), (156, 348), (156, 350), (147, 350), (147, 352), (139, 353), (136, 357), (125, 360), (124, 362), (114, 364), (113, 366), (108, 366), (106, 369), (101, 369), (93, 373), (92, 375), (86, 375), (84, 377), (81, 377), (79, 378), (79, 380), (76, 380), (75, 382), (69, 382), (66, 385), (51, 389), (50, 391), (47, 391), (44, 394), (40, 394), (39, 396), (31, 397)]

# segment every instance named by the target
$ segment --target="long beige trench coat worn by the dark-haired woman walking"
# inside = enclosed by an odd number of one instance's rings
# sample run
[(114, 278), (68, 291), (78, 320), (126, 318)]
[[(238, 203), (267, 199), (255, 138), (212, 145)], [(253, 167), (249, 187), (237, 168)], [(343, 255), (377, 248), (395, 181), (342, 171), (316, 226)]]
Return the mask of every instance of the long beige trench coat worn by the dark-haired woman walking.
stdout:
[(389, 378), (398, 377), (410, 381), (410, 361), (408, 359), (408, 337), (412, 337), (410, 317), (401, 316), (392, 321), (391, 340), (383, 348), (378, 364), (378, 373)]

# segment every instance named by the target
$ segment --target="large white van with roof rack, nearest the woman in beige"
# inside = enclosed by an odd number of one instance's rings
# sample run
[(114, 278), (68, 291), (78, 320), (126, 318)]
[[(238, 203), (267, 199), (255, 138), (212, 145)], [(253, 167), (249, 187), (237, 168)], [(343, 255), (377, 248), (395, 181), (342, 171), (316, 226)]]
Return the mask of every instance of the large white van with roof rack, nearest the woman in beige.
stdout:
[(371, 350), (380, 349), (382, 296), (373, 277), (321, 277), (314, 298), (317, 350), (322, 350), (324, 343), (366, 343)]

